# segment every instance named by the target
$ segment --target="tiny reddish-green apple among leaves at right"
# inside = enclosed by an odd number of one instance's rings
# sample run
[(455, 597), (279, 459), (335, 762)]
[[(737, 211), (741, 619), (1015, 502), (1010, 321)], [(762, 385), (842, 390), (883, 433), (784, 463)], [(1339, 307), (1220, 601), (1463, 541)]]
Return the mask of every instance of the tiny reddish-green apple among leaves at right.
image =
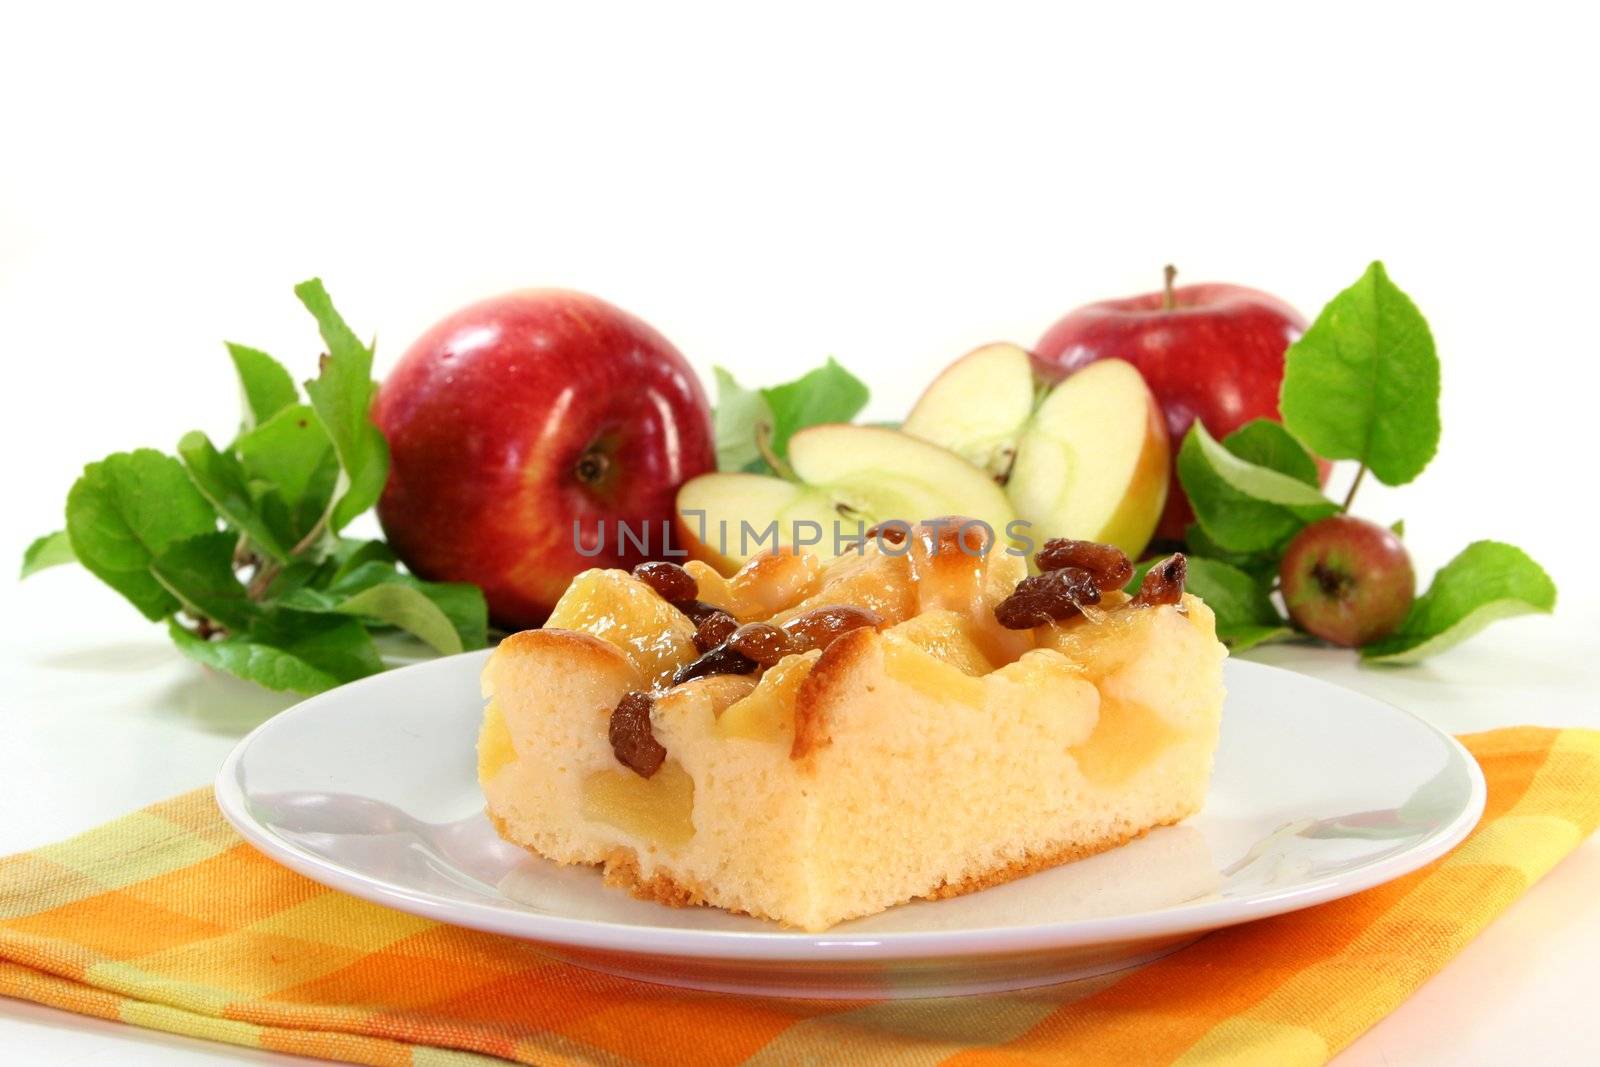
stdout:
[(1352, 515), (1294, 534), (1278, 584), (1296, 625), (1347, 648), (1398, 630), (1416, 597), (1416, 571), (1400, 537)]

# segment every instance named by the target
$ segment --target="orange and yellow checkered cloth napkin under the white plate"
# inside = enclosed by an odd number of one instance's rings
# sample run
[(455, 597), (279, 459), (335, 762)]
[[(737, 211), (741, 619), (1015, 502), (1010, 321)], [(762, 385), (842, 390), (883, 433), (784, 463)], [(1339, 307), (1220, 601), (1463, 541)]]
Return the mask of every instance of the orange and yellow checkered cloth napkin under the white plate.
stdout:
[(606, 977), (325, 889), (198, 790), (0, 861), (0, 993), (362, 1064), (1322, 1064), (1600, 821), (1600, 733), (1462, 741), (1488, 809), (1451, 854), (1088, 982), (786, 1001)]

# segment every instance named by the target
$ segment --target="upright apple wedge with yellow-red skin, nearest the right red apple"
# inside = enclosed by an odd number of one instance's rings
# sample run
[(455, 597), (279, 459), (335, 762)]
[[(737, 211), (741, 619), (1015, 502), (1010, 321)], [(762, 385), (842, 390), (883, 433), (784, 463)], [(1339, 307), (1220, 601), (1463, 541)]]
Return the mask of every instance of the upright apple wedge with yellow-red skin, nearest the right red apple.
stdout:
[(1166, 419), (1131, 363), (1099, 360), (1056, 386), (1016, 443), (1006, 493), (1032, 536), (1114, 544), (1139, 558), (1166, 507)]

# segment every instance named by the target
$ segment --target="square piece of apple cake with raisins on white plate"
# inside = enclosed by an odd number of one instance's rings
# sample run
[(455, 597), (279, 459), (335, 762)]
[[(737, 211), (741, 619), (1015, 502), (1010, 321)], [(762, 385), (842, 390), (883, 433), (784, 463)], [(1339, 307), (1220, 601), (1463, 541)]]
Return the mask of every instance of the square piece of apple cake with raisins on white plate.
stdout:
[(1226, 651), (1182, 557), (1133, 597), (1109, 545), (1038, 565), (944, 520), (581, 574), (483, 672), (490, 817), (637, 896), (826, 929), (1192, 814)]

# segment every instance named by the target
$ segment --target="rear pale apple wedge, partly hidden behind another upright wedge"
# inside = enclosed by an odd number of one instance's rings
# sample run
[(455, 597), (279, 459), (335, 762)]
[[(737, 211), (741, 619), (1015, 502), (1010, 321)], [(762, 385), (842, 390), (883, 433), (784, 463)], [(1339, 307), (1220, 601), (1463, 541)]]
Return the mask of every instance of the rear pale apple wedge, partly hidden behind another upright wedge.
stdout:
[(1003, 483), (1038, 395), (1027, 352), (1014, 344), (986, 344), (944, 368), (901, 429), (949, 448)]

